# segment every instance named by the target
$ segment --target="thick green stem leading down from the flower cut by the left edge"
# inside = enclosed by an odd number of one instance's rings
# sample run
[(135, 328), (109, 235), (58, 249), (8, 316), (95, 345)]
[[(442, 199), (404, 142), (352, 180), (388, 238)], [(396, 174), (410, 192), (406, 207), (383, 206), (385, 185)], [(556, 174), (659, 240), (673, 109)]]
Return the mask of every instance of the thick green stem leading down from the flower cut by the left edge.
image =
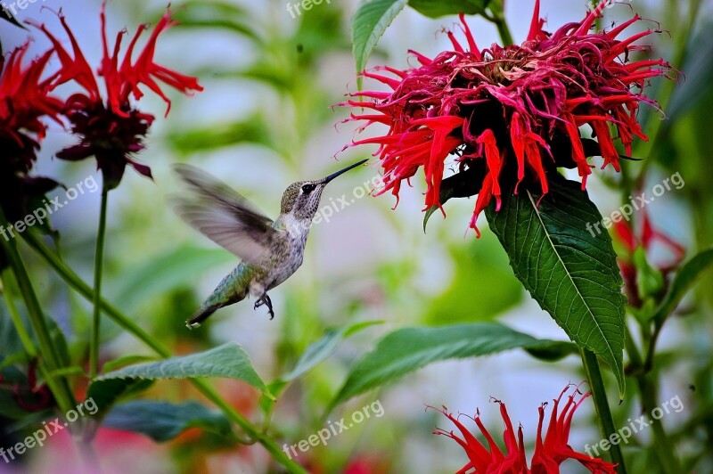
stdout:
[[(8, 227), (8, 222), (4, 217), (2, 209), (0, 209), (0, 226)], [(54, 347), (52, 336), (47, 327), (42, 306), (40, 306), (37, 294), (32, 288), (32, 282), (22, 262), (22, 257), (20, 257), (17, 244), (14, 241), (3, 239), (0, 239), (0, 241), (2, 241), (5, 257), (7, 258), (9, 266), (12, 268), (12, 273), (15, 275), (15, 280), (20, 288), (20, 294), (25, 301), (25, 306), (27, 306), (29, 322), (37, 335), (39, 354), (41, 356), (39, 364), (40, 372), (43, 374), (43, 377), (45, 377), (45, 382), (52, 391), (57, 405), (59, 405), (63, 413), (67, 413), (77, 404), (67, 380), (64, 378), (61, 378), (59, 381), (55, 380), (51, 373), (61, 368), (62, 364), (59, 351)]]

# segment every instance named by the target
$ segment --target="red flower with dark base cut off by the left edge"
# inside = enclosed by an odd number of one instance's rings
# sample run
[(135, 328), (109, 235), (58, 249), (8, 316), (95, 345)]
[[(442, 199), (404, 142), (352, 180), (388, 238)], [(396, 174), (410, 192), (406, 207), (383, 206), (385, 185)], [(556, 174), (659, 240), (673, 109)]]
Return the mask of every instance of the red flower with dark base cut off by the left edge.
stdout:
[(49, 78), (43, 79), (49, 50), (26, 67), (22, 62), (29, 43), (0, 56), (0, 206), (5, 217), (24, 217), (29, 201), (57, 185), (49, 178), (29, 176), (37, 160), (39, 143), (45, 137), (43, 120), (59, 119), (62, 102), (50, 93)]

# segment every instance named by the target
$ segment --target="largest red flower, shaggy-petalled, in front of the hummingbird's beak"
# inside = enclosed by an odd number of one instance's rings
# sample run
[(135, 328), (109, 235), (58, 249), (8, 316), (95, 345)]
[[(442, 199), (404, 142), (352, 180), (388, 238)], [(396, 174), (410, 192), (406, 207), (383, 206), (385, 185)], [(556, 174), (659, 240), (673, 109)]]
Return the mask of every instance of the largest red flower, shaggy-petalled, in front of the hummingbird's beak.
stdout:
[[(547, 176), (555, 168), (577, 168), (583, 189), (592, 172), (588, 156), (602, 155), (602, 168), (611, 164), (619, 171), (614, 140), (619, 139), (630, 156), (634, 136), (647, 139), (636, 120), (637, 110), (639, 102), (655, 102), (643, 96), (643, 88), (671, 68), (663, 60), (629, 61), (629, 53), (644, 49), (635, 42), (652, 34), (649, 29), (617, 39), (641, 20), (638, 15), (610, 31), (590, 32), (609, 3), (603, 1), (584, 20), (549, 34), (542, 29), (537, 0), (522, 45), (494, 44), (482, 51), (461, 14), (467, 49), (449, 32), (453, 51), (432, 60), (411, 51), (419, 67), (377, 69), (395, 78), (365, 72), (392, 92), (362, 91), (353, 95), (371, 100), (341, 105), (375, 110), (351, 115), (349, 120), (364, 120), (364, 127), (389, 127), (386, 135), (349, 145), (380, 145), (375, 153), (384, 168), (380, 193), (391, 190), (398, 197), (401, 182), (423, 167), (426, 208), (443, 211), (444, 162), (455, 155), (460, 172), (477, 169), (468, 178), (467, 194), (479, 194), (471, 219), (477, 231), (476, 218), (493, 199), (499, 208), (504, 193), (517, 193), (523, 182), (528, 188), (537, 184), (544, 194)], [(598, 143), (580, 137), (578, 127), (585, 124)], [(612, 136), (612, 128), (618, 136)]]

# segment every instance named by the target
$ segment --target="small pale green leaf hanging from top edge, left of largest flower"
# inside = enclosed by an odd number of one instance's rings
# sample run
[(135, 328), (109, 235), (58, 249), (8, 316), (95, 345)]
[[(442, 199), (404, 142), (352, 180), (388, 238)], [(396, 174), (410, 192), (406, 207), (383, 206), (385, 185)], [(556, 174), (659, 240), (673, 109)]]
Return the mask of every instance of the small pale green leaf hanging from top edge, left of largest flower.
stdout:
[[(365, 69), (366, 61), (379, 38), (405, 6), (406, 0), (365, 0), (359, 4), (352, 20), (352, 44), (357, 74)], [(361, 77), (357, 86), (361, 89)]]

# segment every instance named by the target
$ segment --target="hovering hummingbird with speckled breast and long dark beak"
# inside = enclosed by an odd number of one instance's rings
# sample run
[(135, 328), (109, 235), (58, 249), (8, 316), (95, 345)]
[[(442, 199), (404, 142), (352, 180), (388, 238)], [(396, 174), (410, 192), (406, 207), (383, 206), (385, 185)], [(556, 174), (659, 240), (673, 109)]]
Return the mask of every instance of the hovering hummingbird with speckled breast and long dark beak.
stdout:
[(290, 184), (283, 193), (280, 216), (271, 220), (230, 186), (189, 165), (175, 171), (189, 192), (176, 199), (178, 214), (211, 241), (242, 259), (186, 321), (197, 328), (217, 309), (242, 301), (249, 294), (258, 300), (254, 309), (267, 306), (275, 317), (267, 291), (287, 280), (302, 265), (307, 235), (324, 187), (332, 179), (364, 164), (363, 159), (316, 181)]

